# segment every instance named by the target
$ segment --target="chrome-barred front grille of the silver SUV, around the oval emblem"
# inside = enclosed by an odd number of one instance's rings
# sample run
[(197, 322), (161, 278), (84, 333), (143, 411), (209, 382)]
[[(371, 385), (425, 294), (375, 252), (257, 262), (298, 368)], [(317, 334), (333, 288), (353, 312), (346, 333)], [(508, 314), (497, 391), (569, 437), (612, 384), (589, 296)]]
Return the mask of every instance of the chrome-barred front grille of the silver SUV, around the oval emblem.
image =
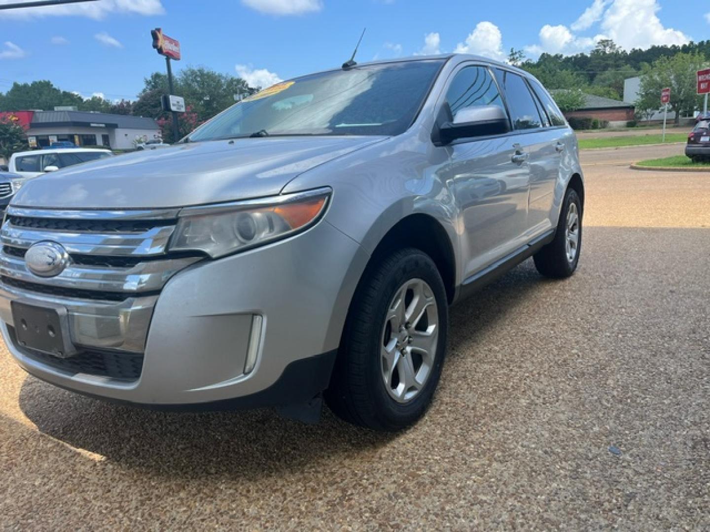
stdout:
[[(178, 211), (9, 207), (0, 233), (0, 318), (13, 326), (13, 299), (60, 304), (67, 309), (72, 342), (82, 350), (143, 353), (165, 283), (204, 258), (169, 253)], [(60, 243), (70, 255), (56, 277), (38, 277), (25, 263), (28, 248), (45, 240)]]

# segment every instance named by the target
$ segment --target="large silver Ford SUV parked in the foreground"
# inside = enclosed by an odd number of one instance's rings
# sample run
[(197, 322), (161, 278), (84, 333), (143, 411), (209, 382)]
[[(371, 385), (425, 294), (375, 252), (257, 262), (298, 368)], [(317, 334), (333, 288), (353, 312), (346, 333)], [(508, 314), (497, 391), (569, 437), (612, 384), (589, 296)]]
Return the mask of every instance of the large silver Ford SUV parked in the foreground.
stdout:
[(2, 226), (0, 318), (25, 370), (161, 408), (321, 398), (417, 421), (449, 304), (581, 248), (577, 141), (530, 74), (451, 55), (344, 65), (183, 139), (26, 184)]

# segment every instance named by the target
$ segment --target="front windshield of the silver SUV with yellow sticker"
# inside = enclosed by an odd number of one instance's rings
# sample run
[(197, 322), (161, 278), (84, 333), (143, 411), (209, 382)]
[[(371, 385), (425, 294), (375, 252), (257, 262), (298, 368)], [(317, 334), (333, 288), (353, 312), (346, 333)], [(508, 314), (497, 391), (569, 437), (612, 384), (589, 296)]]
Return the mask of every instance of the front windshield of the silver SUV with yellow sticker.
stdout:
[(399, 135), (414, 121), (442, 60), (313, 74), (249, 96), (190, 141), (283, 135)]

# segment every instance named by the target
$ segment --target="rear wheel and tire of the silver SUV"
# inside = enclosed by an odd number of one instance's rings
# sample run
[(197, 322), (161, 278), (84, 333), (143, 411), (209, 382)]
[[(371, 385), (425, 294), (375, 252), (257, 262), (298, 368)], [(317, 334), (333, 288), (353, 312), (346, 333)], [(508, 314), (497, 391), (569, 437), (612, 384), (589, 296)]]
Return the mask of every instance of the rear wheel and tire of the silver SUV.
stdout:
[[(577, 216), (574, 231), (567, 233), (567, 224), (569, 216), (574, 212)], [(559, 214), (557, 223), (557, 231), (555, 231), (555, 240), (545, 245), (540, 251), (533, 255), (535, 267), (541, 275), (550, 277), (551, 279), (564, 279), (571, 276), (574, 270), (577, 270), (579, 264), (579, 254), (581, 253), (582, 240), (582, 204), (577, 191), (567, 189), (562, 202), (562, 211)], [(574, 246), (573, 256), (569, 255), (570, 248), (567, 247), (568, 238), (574, 241), (576, 235), (576, 246)]]

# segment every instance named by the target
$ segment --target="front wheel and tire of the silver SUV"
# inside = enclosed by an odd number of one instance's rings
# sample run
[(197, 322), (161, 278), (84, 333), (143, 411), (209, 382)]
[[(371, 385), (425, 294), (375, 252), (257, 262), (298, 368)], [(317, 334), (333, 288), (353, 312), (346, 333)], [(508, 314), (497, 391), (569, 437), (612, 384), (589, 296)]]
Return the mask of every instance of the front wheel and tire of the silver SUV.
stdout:
[[(398, 306), (401, 300), (404, 305)], [(439, 270), (420, 250), (399, 250), (368, 267), (351, 304), (325, 393), (330, 409), (345, 421), (375, 431), (413, 425), (427, 411), (439, 383), (448, 312)], [(406, 321), (408, 313), (411, 322)], [(422, 317), (417, 321), (415, 314)], [(396, 326), (400, 321), (405, 321), (403, 327)], [(425, 356), (417, 345), (430, 345), (432, 355)]]

